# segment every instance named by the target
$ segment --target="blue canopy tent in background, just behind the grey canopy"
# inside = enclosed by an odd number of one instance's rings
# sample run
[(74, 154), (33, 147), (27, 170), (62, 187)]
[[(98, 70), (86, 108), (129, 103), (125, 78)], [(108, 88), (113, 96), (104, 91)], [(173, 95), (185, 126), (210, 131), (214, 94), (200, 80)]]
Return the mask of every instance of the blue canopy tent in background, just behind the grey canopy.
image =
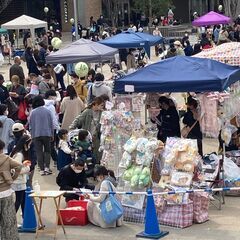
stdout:
[(100, 43), (113, 48), (144, 48), (150, 57), (150, 47), (163, 42), (163, 38), (148, 33), (125, 31), (113, 37), (100, 41)]

